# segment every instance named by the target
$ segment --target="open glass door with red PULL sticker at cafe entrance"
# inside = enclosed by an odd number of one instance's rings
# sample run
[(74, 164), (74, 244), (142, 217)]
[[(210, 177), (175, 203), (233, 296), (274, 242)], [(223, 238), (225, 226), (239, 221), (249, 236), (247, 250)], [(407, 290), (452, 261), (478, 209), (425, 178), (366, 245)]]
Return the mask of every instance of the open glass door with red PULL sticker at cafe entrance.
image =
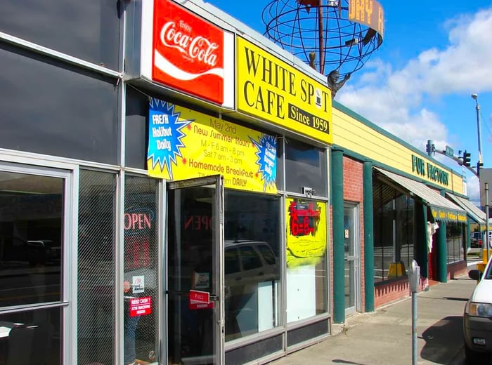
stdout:
[(220, 176), (167, 184), (169, 364), (224, 364), (224, 187)]

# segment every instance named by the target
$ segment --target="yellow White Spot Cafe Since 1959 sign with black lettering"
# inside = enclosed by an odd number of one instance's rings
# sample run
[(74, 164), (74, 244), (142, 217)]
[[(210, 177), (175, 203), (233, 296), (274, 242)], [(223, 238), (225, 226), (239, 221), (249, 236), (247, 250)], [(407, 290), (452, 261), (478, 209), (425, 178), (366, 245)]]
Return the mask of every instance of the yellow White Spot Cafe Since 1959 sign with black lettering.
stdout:
[(290, 131), (332, 143), (328, 86), (236, 36), (237, 107)]

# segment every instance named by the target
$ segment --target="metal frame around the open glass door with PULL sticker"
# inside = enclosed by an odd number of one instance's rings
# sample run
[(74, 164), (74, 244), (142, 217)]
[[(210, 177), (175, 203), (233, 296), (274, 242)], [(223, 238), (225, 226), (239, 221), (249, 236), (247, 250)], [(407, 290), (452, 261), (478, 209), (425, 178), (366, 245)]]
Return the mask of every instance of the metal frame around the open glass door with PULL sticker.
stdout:
[[(166, 304), (165, 304), (165, 332), (167, 338), (166, 343), (163, 347), (165, 347), (165, 361), (163, 363), (167, 363), (168, 359), (168, 340), (169, 340), (169, 333), (167, 333), (167, 324), (169, 323), (169, 318), (167, 314), (167, 252), (168, 252), (168, 227), (169, 225), (167, 224), (167, 217), (169, 214), (169, 199), (167, 197), (167, 193), (169, 190), (179, 190), (187, 187), (200, 187), (200, 186), (205, 186), (205, 185), (215, 185), (215, 207), (214, 207), (214, 216), (218, 219), (215, 219), (213, 221), (214, 225), (214, 231), (215, 231), (215, 244), (216, 250), (215, 250), (215, 262), (218, 263), (218, 267), (216, 267), (216, 270), (214, 270), (214, 279), (216, 282), (216, 295), (219, 297), (216, 300), (216, 305), (214, 307), (216, 311), (216, 318), (218, 319), (215, 323), (216, 326), (216, 338), (214, 341), (214, 354), (216, 354), (216, 364), (218, 365), (223, 365), (225, 364), (225, 351), (224, 351), (224, 344), (225, 344), (225, 314), (224, 314), (224, 176), (222, 175), (209, 175), (205, 177), (200, 177), (200, 178), (191, 178), (191, 179), (186, 179), (186, 180), (172, 180), (172, 181), (167, 181), (164, 184), (164, 192), (165, 192), (165, 197), (164, 197), (164, 204), (165, 204), (165, 248), (164, 248), (164, 267), (165, 267), (165, 277), (166, 277), (166, 284), (164, 286), (164, 296), (166, 298)], [(213, 243), (212, 243), (213, 244)]]

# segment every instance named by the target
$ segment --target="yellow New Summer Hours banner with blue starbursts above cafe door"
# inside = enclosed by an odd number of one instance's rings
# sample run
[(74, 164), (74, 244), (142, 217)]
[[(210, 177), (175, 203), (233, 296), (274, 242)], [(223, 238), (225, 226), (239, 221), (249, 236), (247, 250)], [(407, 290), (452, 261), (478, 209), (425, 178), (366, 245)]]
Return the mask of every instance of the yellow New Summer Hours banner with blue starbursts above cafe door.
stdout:
[(251, 128), (150, 100), (148, 174), (168, 180), (224, 175), (224, 186), (276, 193), (277, 142)]

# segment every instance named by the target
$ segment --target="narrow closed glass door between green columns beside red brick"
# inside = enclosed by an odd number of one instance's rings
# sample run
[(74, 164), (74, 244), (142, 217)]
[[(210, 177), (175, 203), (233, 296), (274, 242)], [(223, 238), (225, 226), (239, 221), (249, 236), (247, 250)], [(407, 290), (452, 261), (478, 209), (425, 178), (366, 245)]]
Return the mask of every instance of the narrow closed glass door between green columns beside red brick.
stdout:
[(353, 314), (358, 305), (358, 208), (344, 204), (345, 314)]

